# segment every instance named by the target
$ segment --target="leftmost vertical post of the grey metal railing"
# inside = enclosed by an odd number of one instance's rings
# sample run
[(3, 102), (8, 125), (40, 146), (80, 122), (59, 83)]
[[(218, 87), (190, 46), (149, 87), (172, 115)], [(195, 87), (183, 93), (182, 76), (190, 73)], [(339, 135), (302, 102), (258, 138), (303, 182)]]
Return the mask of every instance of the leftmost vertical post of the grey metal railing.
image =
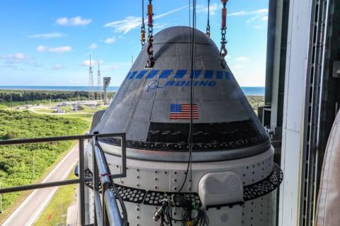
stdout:
[(79, 140), (79, 201), (80, 224), (85, 225), (85, 181), (84, 181), (84, 140)]

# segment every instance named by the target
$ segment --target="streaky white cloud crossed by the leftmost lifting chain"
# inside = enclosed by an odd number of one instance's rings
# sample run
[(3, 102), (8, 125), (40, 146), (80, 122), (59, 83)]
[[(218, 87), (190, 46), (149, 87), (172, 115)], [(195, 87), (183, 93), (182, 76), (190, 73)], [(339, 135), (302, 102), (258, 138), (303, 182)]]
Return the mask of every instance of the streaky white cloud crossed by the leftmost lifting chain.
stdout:
[[(174, 9), (171, 11), (168, 11), (166, 13), (159, 14), (157, 16), (154, 16), (154, 19), (162, 18), (164, 16), (168, 16), (171, 13), (174, 13), (176, 11), (180, 11), (181, 9), (186, 9), (188, 6), (182, 6), (178, 9)], [(115, 33), (128, 33), (130, 30), (139, 28), (142, 24), (142, 18), (139, 16), (127, 16), (125, 19), (120, 21), (113, 21), (111, 23), (106, 23), (104, 25), (105, 28), (113, 28)]]

